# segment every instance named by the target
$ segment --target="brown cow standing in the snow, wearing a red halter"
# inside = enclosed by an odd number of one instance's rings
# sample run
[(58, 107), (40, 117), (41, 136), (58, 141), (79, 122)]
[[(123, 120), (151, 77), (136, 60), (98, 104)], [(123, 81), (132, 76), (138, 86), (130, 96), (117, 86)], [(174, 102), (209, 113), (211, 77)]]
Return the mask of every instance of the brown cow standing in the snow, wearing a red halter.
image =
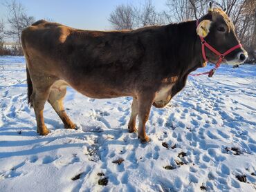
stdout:
[[(133, 97), (128, 131), (137, 131), (138, 116), (138, 138), (149, 142), (145, 124), (152, 105), (166, 106), (183, 89), (188, 75), (205, 66), (199, 37), (219, 52), (239, 44), (232, 21), (219, 8), (197, 22), (125, 31), (78, 30), (44, 20), (33, 23), (22, 31), (21, 42), (37, 133), (49, 133), (43, 116), (46, 101), (64, 128), (75, 128), (63, 106), (66, 86), (71, 86), (91, 98)], [(208, 48), (205, 57), (212, 63), (219, 59)], [(221, 63), (241, 64), (246, 57), (246, 50), (239, 47)]]

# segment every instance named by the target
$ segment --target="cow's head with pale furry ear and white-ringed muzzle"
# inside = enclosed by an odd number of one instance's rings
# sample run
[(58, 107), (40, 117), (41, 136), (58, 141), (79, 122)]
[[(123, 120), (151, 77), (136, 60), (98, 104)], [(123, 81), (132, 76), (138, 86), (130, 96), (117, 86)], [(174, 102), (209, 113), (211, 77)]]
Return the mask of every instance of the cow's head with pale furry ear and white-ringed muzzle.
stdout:
[[(199, 19), (199, 25), (196, 28), (197, 35), (203, 37), (213, 48), (223, 53), (239, 44), (237, 35), (235, 34), (235, 26), (226, 15), (226, 12), (219, 8), (210, 8), (207, 15)], [(207, 59), (216, 63), (219, 57), (208, 48), (205, 48)], [(222, 63), (241, 64), (248, 57), (244, 48), (237, 48), (225, 56)]]

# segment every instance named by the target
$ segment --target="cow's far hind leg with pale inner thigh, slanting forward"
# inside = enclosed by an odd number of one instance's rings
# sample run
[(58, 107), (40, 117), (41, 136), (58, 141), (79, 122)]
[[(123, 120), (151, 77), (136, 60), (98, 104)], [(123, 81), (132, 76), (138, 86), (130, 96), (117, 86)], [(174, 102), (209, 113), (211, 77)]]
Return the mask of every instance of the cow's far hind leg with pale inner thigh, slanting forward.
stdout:
[(63, 99), (66, 95), (66, 85), (60, 83), (60, 81), (55, 82), (51, 88), (51, 92), (48, 98), (48, 102), (51, 104), (53, 109), (59, 115), (60, 119), (64, 124), (64, 128), (75, 128), (75, 124), (69, 119), (68, 115), (64, 110)]

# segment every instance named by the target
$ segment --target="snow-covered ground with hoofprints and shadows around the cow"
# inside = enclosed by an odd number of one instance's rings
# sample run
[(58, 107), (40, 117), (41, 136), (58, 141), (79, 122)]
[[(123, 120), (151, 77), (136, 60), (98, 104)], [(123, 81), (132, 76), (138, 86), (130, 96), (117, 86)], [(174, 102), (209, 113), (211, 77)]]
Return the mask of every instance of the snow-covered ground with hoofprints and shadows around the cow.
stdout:
[(80, 128), (65, 130), (46, 104), (51, 133), (37, 135), (24, 57), (0, 57), (0, 71), (0, 191), (256, 190), (255, 66), (189, 77), (167, 107), (152, 107), (145, 145), (127, 131), (130, 97), (71, 88), (65, 108)]

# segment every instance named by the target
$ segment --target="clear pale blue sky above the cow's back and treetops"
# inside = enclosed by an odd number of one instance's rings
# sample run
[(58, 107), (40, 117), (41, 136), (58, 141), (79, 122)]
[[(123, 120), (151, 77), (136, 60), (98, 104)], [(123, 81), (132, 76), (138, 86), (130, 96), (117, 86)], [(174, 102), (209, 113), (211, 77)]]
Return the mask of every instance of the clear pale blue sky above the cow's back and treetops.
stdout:
[[(8, 14), (0, 0), (0, 19)], [(39, 19), (52, 19), (73, 28), (87, 30), (109, 30), (110, 13), (116, 6), (129, 3), (140, 6), (146, 0), (17, 0), (26, 8), (29, 16)], [(165, 10), (166, 0), (152, 0), (156, 10)]]

